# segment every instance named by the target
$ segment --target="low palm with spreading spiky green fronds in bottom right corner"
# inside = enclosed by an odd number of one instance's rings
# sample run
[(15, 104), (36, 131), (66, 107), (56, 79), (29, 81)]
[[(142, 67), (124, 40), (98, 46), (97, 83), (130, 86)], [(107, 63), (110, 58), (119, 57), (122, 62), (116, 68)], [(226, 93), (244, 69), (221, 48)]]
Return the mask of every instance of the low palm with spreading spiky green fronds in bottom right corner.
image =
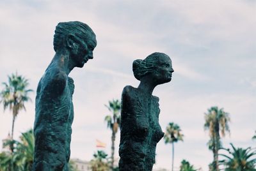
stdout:
[(230, 149), (223, 149), (228, 154), (220, 154), (225, 160), (220, 163), (225, 166), (225, 171), (255, 171), (256, 170), (256, 150), (248, 147), (246, 149), (236, 148), (232, 143), (232, 151)]

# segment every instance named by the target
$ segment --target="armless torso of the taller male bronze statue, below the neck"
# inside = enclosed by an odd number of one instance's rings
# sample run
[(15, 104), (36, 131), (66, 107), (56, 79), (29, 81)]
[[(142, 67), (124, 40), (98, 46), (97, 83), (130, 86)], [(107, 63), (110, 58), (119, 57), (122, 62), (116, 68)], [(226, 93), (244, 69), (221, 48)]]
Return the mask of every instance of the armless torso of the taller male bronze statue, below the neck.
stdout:
[(46, 162), (49, 170), (66, 170), (70, 157), (74, 81), (66, 78), (60, 93), (56, 75), (47, 70), (36, 92), (35, 163)]

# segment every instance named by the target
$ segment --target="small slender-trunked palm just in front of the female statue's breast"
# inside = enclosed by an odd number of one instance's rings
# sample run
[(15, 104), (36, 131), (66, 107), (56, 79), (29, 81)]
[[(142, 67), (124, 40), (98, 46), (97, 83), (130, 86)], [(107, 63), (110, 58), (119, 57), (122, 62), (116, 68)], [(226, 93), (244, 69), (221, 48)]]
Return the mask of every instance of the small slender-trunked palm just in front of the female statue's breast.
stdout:
[(184, 135), (181, 133), (180, 126), (175, 123), (169, 123), (166, 127), (166, 133), (164, 134), (164, 143), (172, 144), (172, 171), (173, 171), (173, 161), (174, 161), (174, 142), (179, 140), (183, 141)]

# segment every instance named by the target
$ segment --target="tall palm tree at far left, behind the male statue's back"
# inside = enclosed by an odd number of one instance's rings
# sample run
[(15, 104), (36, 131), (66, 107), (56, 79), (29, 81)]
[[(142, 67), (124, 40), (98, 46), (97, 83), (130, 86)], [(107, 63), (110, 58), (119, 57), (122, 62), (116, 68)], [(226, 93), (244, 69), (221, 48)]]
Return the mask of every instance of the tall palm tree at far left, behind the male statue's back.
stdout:
[(0, 93), (0, 103), (3, 103), (4, 110), (8, 107), (12, 110), (13, 119), (11, 137), (13, 139), (15, 119), (20, 110), (26, 110), (24, 103), (31, 100), (28, 93), (33, 90), (28, 89), (28, 79), (22, 77), (22, 75), (18, 75), (17, 72), (8, 76), (8, 82), (3, 82), (3, 85), (4, 89)]

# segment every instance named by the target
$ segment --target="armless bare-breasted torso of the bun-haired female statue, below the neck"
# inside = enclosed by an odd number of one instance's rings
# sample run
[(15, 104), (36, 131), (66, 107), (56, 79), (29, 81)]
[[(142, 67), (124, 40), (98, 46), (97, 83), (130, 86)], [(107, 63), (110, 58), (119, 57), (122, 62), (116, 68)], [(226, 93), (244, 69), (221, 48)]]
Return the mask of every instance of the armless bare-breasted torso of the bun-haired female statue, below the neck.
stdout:
[(158, 101), (156, 96), (131, 86), (125, 87), (122, 94), (120, 154), (124, 158), (134, 158), (134, 154), (143, 158), (138, 164), (142, 170), (152, 170), (156, 144), (164, 134), (159, 125)]

